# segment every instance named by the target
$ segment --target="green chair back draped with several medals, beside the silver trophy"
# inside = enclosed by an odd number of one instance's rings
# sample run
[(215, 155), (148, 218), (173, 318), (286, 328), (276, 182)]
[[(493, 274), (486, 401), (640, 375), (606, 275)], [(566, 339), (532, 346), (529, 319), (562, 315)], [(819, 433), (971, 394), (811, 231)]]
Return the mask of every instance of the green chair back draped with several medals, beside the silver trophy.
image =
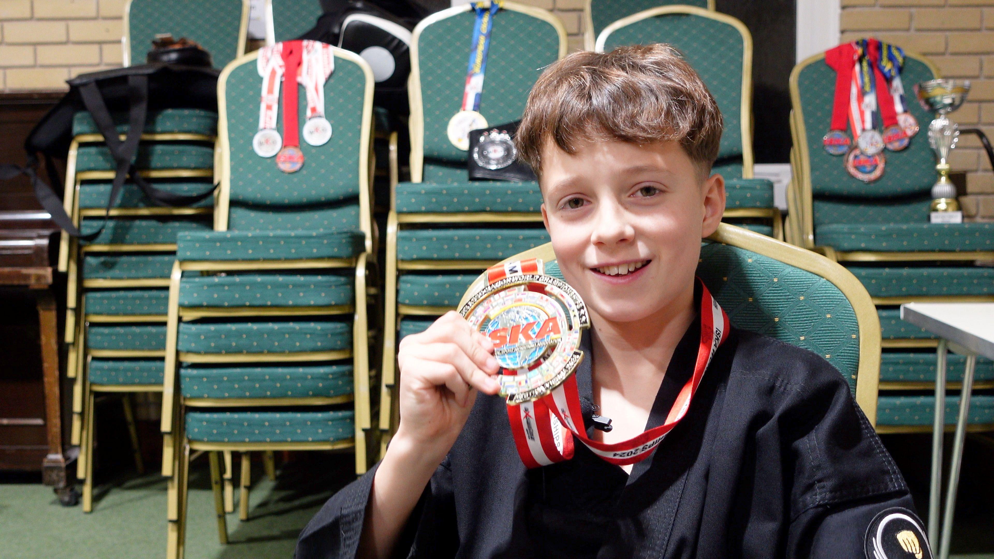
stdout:
[[(911, 114), (918, 120), (921, 131), (911, 138), (911, 145), (902, 151), (887, 151), (887, 166), (884, 176), (865, 183), (846, 172), (841, 156), (829, 155), (821, 145), (821, 138), (828, 131), (832, 120), (832, 99), (835, 94), (835, 71), (825, 64), (824, 54), (813, 56), (798, 64), (790, 76), (790, 94), (794, 114), (797, 117), (800, 160), (805, 181), (810, 183), (814, 198), (845, 198), (853, 202), (864, 199), (872, 204), (873, 211), (880, 212), (877, 223), (901, 223), (907, 208), (894, 207), (894, 211), (878, 206), (880, 198), (901, 196), (927, 196), (935, 182), (935, 157), (928, 147), (927, 126), (932, 116), (914, 100), (913, 86), (919, 82), (932, 80), (936, 71), (924, 59), (909, 55), (901, 73), (907, 105)], [(866, 200), (878, 199), (878, 200)], [(925, 204), (927, 207), (927, 204)], [(870, 208), (867, 208), (869, 210)], [(868, 221), (866, 213), (844, 212), (858, 215), (861, 221)], [(915, 221), (920, 221), (925, 213), (918, 213)], [(847, 220), (845, 215), (833, 219)], [(852, 218), (849, 218), (852, 219)], [(848, 221), (848, 220), (847, 220)], [(847, 221), (843, 221), (846, 223)], [(840, 222), (833, 222), (840, 223)]]

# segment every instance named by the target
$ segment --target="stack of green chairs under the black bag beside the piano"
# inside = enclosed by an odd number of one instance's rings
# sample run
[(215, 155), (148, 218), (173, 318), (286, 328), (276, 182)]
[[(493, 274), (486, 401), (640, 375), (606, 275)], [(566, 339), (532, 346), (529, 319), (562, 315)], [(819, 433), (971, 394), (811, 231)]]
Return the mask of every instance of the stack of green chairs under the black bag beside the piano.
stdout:
[[(128, 115), (113, 114), (127, 132)], [(148, 114), (135, 166), (156, 187), (175, 194), (210, 191), (214, 180), (217, 113), (165, 109)], [(65, 207), (84, 234), (103, 222), (115, 164), (90, 114), (78, 112), (67, 161)], [(208, 230), (212, 198), (191, 207), (156, 206), (125, 183), (103, 231), (92, 241), (63, 235), (68, 274), (68, 376), (75, 379), (71, 441), (81, 446), (83, 511), (92, 509), (94, 410), (97, 395), (123, 396), (136, 466), (142, 470), (129, 394), (161, 392), (169, 270), (176, 234)]]

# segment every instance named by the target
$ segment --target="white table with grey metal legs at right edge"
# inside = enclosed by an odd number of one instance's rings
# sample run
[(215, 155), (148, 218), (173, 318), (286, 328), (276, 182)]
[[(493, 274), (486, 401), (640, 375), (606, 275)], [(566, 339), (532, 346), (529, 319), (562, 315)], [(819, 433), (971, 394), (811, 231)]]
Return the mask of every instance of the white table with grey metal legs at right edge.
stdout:
[(994, 359), (994, 302), (910, 302), (901, 305), (901, 319), (939, 337), (935, 367), (935, 422), (932, 427), (931, 487), (928, 493), (928, 540), (939, 535), (939, 498), (942, 487), (942, 436), (945, 428), (945, 357), (951, 349), (966, 356), (966, 370), (959, 396), (959, 414), (952, 440), (949, 487), (945, 495), (939, 559), (948, 559), (952, 517), (963, 459), (963, 441), (970, 412), (970, 392), (977, 356)]

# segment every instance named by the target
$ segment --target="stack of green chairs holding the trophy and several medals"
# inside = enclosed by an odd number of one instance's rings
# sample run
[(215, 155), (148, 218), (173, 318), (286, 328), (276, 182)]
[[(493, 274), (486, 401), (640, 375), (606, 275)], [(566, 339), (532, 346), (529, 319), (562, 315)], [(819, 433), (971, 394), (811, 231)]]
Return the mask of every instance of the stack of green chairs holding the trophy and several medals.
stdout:
[[(883, 336), (877, 430), (880, 433), (932, 430), (938, 340), (901, 320), (900, 305), (911, 301), (994, 300), (994, 269), (973, 261), (994, 258), (994, 224), (930, 224), (929, 191), (935, 159), (928, 146), (932, 115), (911, 97), (911, 88), (937, 76), (925, 59), (909, 55), (902, 81), (908, 107), (921, 126), (911, 145), (886, 151), (883, 177), (865, 183), (851, 177), (841, 157), (822, 149), (829, 128), (835, 72), (824, 54), (794, 67), (793, 174), (788, 192), (797, 216), (796, 242), (842, 263), (866, 286), (877, 305)], [(949, 387), (959, 388), (963, 358), (950, 355)], [(994, 429), (994, 364), (978, 359), (970, 405), (972, 430)], [(926, 392), (927, 391), (927, 392)], [(956, 396), (945, 402), (946, 421), (955, 421)], [(949, 426), (951, 428), (951, 425)]]

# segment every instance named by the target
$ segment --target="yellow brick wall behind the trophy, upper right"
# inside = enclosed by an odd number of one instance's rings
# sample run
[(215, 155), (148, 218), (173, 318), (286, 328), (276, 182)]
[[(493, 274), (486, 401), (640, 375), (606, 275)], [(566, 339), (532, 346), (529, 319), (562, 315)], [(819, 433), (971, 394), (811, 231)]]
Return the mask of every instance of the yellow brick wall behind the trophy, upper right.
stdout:
[[(952, 118), (994, 138), (994, 0), (842, 0), (840, 23), (842, 41), (877, 37), (925, 55), (944, 78), (969, 80), (969, 100)], [(954, 170), (967, 173), (969, 194), (994, 195), (994, 174), (976, 136), (961, 136), (951, 159)], [(991, 202), (968, 200), (964, 210), (994, 218)]]

